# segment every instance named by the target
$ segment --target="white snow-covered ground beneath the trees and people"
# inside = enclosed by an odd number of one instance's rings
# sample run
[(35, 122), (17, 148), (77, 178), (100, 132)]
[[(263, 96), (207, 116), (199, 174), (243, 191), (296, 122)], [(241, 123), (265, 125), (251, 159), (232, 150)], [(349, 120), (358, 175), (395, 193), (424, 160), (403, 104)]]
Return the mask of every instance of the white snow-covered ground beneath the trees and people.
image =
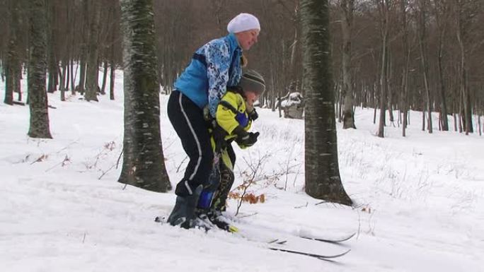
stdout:
[[(408, 137), (387, 126), (378, 138), (373, 111), (357, 108), (357, 130), (338, 124), (341, 176), (357, 203), (348, 208), (304, 194), (304, 122), (258, 110), (258, 143), (235, 148), (236, 184), (260, 164), (249, 191), (266, 201), (243, 203), (238, 227), (289, 240), (287, 249), (352, 249), (336, 262), (320, 261), (229, 233), (154, 223), (175, 195), (117, 183), (122, 73), (116, 83), (115, 101), (78, 95), (61, 102), (50, 94), (52, 140), (28, 138), (28, 107), (0, 104), (1, 271), (484, 271), (484, 137), (437, 128), (429, 135), (412, 112)], [(174, 185), (187, 161), (166, 107), (161, 129)], [(237, 203), (231, 200), (229, 215)], [(342, 246), (294, 236), (352, 232)]]

